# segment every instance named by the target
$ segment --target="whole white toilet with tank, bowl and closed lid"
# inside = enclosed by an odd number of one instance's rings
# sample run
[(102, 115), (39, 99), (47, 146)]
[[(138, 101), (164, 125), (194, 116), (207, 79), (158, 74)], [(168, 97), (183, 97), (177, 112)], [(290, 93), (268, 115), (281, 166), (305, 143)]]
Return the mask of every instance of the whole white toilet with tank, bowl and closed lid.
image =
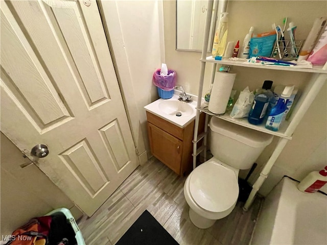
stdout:
[(233, 210), (239, 195), (239, 169), (250, 168), (273, 138), (218, 117), (210, 120), (209, 127), (214, 157), (194, 169), (184, 184), (190, 219), (201, 229)]

